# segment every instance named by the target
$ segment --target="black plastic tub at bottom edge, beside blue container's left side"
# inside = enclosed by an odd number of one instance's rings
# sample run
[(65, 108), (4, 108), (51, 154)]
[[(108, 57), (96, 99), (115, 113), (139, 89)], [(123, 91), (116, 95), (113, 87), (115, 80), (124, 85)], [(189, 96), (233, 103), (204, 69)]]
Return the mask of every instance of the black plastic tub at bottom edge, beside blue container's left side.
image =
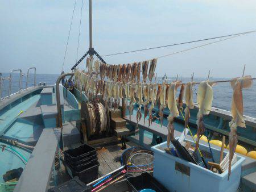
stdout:
[(142, 173), (137, 177), (128, 177), (126, 178), (128, 183), (128, 188), (130, 192), (137, 192), (143, 189), (152, 189), (156, 192), (168, 192), (166, 187), (159, 183), (154, 177), (149, 173)]

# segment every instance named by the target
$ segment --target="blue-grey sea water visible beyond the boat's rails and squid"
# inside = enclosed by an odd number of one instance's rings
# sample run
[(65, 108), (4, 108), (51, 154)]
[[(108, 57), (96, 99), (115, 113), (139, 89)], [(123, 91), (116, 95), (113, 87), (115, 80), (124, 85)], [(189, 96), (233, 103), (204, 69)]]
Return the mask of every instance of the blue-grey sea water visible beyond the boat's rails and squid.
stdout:
[[(9, 77), (9, 73), (3, 73), (3, 77)], [(54, 85), (56, 83), (58, 74), (36, 74), (36, 84), (39, 82), (46, 82), (46, 85)], [(175, 80), (175, 78), (167, 78), (167, 83)], [(178, 80), (181, 80), (180, 78)], [(210, 81), (227, 80), (226, 78), (210, 78)], [(190, 78), (182, 78), (183, 82), (190, 81)], [(193, 81), (205, 81), (205, 78), (194, 78)], [(162, 83), (162, 79), (158, 78), (156, 82)], [(19, 89), (19, 74), (13, 73), (11, 93), (16, 93)], [(30, 74), (28, 77), (28, 87), (34, 85), (34, 74)], [(22, 89), (26, 88), (26, 76), (22, 78)], [(193, 88), (193, 100), (196, 102), (196, 93), (198, 85)], [(3, 81), (2, 97), (6, 97), (9, 93), (9, 81)], [(231, 110), (232, 102), (232, 87), (229, 82), (218, 83), (213, 86), (213, 107), (221, 108), (227, 111)], [(177, 96), (179, 95), (179, 89), (177, 90)], [(256, 118), (256, 82), (249, 88), (243, 90), (243, 107), (244, 115)]]

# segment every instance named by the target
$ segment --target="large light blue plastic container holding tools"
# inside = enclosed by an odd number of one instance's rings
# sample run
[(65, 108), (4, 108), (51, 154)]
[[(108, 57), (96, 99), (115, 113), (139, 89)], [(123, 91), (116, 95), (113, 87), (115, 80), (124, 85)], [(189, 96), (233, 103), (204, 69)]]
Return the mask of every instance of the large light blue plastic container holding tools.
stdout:
[[(237, 191), (242, 162), (244, 157), (237, 155), (237, 162), (233, 164), (228, 181), (228, 170), (218, 174), (185, 161), (179, 157), (172, 156), (164, 151), (167, 142), (151, 147), (154, 151), (154, 173), (153, 176), (170, 191), (211, 191), (211, 192), (231, 192)], [(173, 145), (171, 145), (173, 147)], [(215, 160), (220, 158), (220, 151), (212, 147)], [(200, 144), (201, 151), (209, 152), (207, 145)], [(226, 152), (224, 152), (224, 157)], [(206, 159), (212, 161), (212, 159)]]

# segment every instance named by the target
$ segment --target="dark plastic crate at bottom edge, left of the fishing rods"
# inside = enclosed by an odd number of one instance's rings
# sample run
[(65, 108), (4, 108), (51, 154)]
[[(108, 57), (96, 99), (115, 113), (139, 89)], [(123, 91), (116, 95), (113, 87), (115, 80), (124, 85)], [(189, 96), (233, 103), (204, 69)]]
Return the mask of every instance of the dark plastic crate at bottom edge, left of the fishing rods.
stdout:
[(62, 183), (49, 190), (49, 192), (89, 192), (90, 187), (86, 186), (85, 183), (81, 182), (78, 177), (72, 178), (67, 182)]

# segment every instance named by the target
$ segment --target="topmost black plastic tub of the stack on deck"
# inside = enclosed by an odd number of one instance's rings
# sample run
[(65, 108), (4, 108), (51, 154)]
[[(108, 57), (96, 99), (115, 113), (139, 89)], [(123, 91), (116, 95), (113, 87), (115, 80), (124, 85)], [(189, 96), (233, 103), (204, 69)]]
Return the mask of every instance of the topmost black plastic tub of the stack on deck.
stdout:
[(64, 157), (69, 158), (73, 162), (82, 160), (95, 154), (97, 154), (96, 149), (86, 144), (83, 144), (75, 149), (64, 151)]

